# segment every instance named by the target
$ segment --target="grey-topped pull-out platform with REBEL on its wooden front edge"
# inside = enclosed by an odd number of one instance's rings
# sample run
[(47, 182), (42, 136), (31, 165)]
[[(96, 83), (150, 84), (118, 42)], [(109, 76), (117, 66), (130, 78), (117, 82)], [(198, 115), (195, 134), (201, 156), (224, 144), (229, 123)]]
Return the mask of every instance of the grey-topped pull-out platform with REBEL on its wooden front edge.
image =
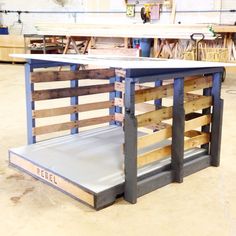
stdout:
[[(123, 137), (121, 127), (106, 126), (13, 148), (9, 151), (9, 160), (12, 166), (95, 209), (101, 209), (112, 204), (124, 192)], [(188, 163), (194, 165), (196, 162), (191, 170), (186, 169), (185, 175), (209, 166), (209, 156), (204, 149), (186, 151), (184, 159), (185, 169)], [(138, 180), (142, 182), (158, 175), (161, 177), (168, 172), (170, 157), (140, 168)], [(158, 178), (155, 181), (156, 186), (161, 187), (170, 183), (171, 178), (165, 178), (163, 182), (161, 177), (160, 183)], [(153, 184), (148, 187), (147, 183), (146, 188), (153, 188)], [(144, 188), (143, 194), (145, 191)]]

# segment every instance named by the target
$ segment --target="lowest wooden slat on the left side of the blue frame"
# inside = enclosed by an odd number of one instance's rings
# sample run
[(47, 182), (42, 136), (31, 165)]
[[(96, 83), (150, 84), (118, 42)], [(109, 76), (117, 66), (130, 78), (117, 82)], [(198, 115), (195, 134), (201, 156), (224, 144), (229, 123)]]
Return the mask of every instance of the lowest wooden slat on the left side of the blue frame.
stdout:
[(64, 122), (61, 124), (40, 126), (33, 129), (33, 134), (42, 135), (42, 134), (49, 134), (49, 133), (63, 131), (63, 130), (70, 130), (73, 128), (103, 124), (106, 122), (110, 122), (113, 119), (114, 119), (113, 116), (103, 116), (103, 117), (90, 118), (90, 119), (85, 119), (85, 120), (80, 120), (80, 121), (70, 121), (70, 122)]

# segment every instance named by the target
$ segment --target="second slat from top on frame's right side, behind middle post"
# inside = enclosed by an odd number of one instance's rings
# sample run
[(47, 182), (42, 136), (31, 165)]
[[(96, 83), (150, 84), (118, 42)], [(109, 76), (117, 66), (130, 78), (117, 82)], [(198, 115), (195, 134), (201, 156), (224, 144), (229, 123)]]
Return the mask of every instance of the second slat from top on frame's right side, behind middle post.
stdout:
[[(185, 114), (205, 109), (212, 105), (212, 97), (201, 97), (184, 104)], [(137, 115), (138, 127), (147, 126), (153, 123), (160, 123), (162, 120), (172, 118), (173, 107), (166, 107), (156, 111)]]

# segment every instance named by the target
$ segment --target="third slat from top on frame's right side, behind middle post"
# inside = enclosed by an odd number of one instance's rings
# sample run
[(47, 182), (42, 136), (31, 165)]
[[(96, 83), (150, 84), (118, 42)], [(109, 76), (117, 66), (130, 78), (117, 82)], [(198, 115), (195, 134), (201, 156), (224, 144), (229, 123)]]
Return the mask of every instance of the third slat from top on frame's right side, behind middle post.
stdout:
[[(211, 123), (211, 115), (203, 115), (201, 117), (189, 120), (185, 122), (185, 132), (196, 129), (198, 127), (207, 125)], [(165, 139), (168, 139), (172, 136), (172, 127), (166, 127), (155, 133), (145, 135), (138, 138), (137, 148), (145, 148), (147, 146), (153, 145), (155, 143), (161, 142)]]

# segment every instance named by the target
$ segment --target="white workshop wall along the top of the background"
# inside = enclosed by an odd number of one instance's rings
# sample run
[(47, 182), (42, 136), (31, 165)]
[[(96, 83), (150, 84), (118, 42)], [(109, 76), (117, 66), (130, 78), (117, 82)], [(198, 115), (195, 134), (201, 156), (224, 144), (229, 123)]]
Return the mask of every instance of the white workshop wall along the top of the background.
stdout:
[[(2, 3), (2, 4), (1, 4)], [(176, 0), (177, 11), (199, 11), (176, 14), (176, 23), (228, 23), (235, 22), (236, 13), (210, 12), (234, 9), (235, 0)], [(17, 23), (17, 14), (2, 14), (0, 23), (8, 25), (15, 34), (34, 33), (37, 22), (89, 22), (89, 23), (129, 23), (141, 22), (140, 14), (134, 18), (125, 15), (124, 0), (0, 0), (3, 10), (42, 11), (42, 12), (111, 12), (111, 13), (31, 13), (21, 14), (22, 25)], [(137, 10), (141, 6), (137, 7)], [(209, 12), (202, 12), (202, 10)], [(107, 20), (109, 18), (109, 20)], [(160, 23), (169, 23), (170, 14), (162, 13)]]

